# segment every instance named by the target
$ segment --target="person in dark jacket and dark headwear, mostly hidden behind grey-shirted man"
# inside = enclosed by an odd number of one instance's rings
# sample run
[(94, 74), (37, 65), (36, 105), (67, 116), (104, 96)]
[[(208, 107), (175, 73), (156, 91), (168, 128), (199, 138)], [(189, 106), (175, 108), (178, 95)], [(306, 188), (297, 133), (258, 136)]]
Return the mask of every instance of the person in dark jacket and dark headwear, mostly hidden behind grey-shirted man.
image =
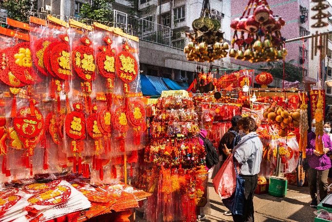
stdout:
[[(219, 147), (218, 147), (218, 151), (219, 154), (222, 155), (222, 161), (225, 161), (227, 159), (226, 155), (224, 154), (224, 152), (222, 151), (222, 149), (224, 148), (223, 144), (226, 144), (227, 148), (229, 149), (229, 151), (232, 152), (233, 150), (233, 141), (235, 138), (235, 134), (230, 132), (230, 131), (235, 131), (236, 133), (240, 134), (240, 136), (242, 135), (242, 132), (240, 132), (240, 128), (239, 126), (237, 126), (238, 121), (242, 119), (242, 117), (240, 115), (236, 115), (232, 118), (231, 123), (232, 123), (232, 127), (228, 129), (228, 131), (222, 136), (220, 143), (219, 143)], [(226, 216), (232, 216), (232, 212), (229, 211), (225, 211), (223, 213)]]

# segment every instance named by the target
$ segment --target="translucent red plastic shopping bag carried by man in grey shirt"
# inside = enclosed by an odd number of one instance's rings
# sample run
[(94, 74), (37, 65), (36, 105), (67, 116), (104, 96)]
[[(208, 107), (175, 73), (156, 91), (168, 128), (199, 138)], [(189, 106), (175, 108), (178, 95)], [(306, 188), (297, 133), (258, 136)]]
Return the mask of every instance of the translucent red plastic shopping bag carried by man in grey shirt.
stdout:
[(233, 154), (228, 156), (212, 182), (215, 191), (219, 194), (221, 199), (232, 196), (236, 187), (236, 173)]

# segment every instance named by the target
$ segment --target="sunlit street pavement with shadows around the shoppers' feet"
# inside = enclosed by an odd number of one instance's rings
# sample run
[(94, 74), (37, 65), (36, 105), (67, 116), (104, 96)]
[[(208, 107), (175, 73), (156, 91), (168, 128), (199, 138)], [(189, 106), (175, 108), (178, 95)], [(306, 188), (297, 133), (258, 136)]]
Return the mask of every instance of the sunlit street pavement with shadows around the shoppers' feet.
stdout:
[[(212, 181), (208, 183), (210, 210), (207, 210), (204, 222), (232, 222), (232, 216), (223, 215), (227, 208), (221, 203)], [(260, 194), (254, 197), (255, 222), (314, 222), (315, 209), (310, 207), (308, 186), (287, 186), (285, 197), (273, 197)], [(136, 211), (136, 222), (146, 222), (143, 213)]]

